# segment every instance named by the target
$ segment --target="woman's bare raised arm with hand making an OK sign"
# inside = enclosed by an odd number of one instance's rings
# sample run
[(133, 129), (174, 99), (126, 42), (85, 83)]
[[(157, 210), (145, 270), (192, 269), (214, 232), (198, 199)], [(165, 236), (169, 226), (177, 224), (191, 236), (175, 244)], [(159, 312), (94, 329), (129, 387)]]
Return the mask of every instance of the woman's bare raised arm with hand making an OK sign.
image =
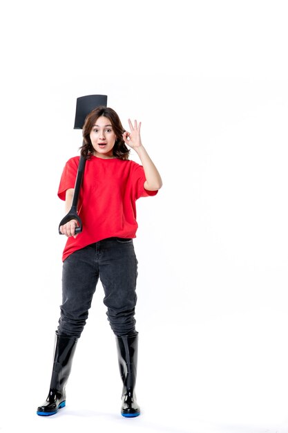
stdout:
[(144, 188), (148, 191), (160, 190), (160, 188), (162, 187), (161, 176), (150, 156), (148, 155), (146, 149), (142, 145), (140, 136), (141, 122), (139, 122), (139, 125), (137, 125), (137, 120), (135, 120), (134, 127), (130, 119), (128, 119), (128, 123), (131, 132), (125, 131), (123, 134), (123, 140), (126, 145), (128, 145), (137, 152), (137, 155), (141, 160), (146, 177)]

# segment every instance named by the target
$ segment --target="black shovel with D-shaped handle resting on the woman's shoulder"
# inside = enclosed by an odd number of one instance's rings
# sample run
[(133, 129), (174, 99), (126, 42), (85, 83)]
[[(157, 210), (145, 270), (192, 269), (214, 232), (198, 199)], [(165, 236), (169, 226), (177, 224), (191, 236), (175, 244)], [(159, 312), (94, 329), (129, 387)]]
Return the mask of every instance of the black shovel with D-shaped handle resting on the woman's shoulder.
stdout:
[[(100, 105), (107, 107), (106, 95), (86, 95), (77, 98), (74, 129), (82, 129), (84, 126), (86, 116), (88, 116), (88, 114), (92, 110), (99, 107)], [(72, 206), (68, 214), (64, 216), (64, 218), (61, 219), (59, 223), (59, 228), (58, 228), (59, 234), (62, 234), (60, 232), (60, 225), (64, 225), (68, 223), (68, 221), (71, 221), (71, 219), (76, 219), (77, 222), (79, 223), (79, 226), (75, 228), (75, 234), (81, 233), (82, 231), (82, 221), (77, 212), (77, 205), (79, 200), (79, 193), (80, 193), (82, 178), (84, 174), (85, 164), (86, 164), (86, 159), (84, 156), (81, 155), (79, 159), (78, 169), (77, 169)]]

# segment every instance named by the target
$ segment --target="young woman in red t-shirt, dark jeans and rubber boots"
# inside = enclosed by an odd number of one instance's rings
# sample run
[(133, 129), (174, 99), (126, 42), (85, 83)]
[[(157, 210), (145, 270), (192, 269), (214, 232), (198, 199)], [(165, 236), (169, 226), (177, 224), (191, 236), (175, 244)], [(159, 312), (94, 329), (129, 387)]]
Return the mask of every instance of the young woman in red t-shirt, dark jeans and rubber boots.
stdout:
[[(78, 213), (83, 230), (75, 234), (74, 219), (61, 225), (68, 237), (63, 252), (62, 304), (48, 397), (37, 414), (56, 414), (66, 404), (65, 386), (77, 340), (88, 318), (98, 279), (115, 333), (123, 381), (121, 413), (138, 416), (135, 397), (138, 333), (135, 329), (137, 259), (133, 238), (137, 231), (135, 202), (155, 196), (162, 187), (157, 168), (144, 146), (141, 122), (128, 120), (125, 131), (117, 113), (98, 107), (86, 117), (81, 155), (86, 158)], [(128, 160), (131, 147), (142, 165)], [(61, 176), (58, 195), (70, 210), (79, 156), (70, 158)]]

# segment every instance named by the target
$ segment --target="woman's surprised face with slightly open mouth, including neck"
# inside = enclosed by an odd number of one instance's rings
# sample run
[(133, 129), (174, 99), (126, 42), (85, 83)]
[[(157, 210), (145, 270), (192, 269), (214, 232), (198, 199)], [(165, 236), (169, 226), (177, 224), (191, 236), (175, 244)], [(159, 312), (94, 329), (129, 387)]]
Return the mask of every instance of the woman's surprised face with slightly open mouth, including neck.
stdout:
[(114, 158), (113, 146), (116, 134), (112, 129), (111, 121), (104, 116), (97, 118), (90, 132), (90, 140), (93, 145), (93, 155), (98, 158)]

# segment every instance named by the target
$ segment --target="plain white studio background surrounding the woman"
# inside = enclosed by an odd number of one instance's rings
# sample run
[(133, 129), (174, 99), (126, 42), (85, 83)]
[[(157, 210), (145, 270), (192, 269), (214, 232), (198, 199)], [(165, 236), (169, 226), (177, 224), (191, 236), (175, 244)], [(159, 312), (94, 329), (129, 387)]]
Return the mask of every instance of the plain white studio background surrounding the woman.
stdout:
[[(288, 432), (287, 2), (10, 1), (0, 19), (0, 432)], [(94, 93), (142, 121), (164, 183), (137, 207), (142, 415), (119, 415), (99, 284), (67, 406), (42, 418), (57, 188)]]

